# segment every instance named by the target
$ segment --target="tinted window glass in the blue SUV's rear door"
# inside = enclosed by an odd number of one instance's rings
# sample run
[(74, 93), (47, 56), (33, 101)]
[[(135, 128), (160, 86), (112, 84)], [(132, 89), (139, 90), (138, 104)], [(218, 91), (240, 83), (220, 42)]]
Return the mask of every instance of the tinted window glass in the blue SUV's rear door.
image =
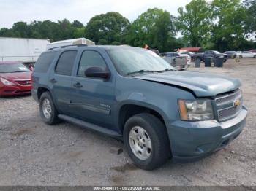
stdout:
[(63, 52), (59, 57), (59, 61), (56, 66), (56, 74), (71, 76), (76, 55), (76, 50), (69, 50)]

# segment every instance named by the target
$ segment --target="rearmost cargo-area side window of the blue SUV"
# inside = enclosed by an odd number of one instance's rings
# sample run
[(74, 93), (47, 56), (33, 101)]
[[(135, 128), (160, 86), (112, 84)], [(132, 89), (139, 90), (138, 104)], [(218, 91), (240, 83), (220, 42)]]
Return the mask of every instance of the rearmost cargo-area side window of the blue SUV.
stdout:
[(56, 52), (44, 52), (42, 53), (34, 66), (35, 72), (45, 73), (50, 67), (50, 63), (53, 62), (53, 59), (56, 55)]

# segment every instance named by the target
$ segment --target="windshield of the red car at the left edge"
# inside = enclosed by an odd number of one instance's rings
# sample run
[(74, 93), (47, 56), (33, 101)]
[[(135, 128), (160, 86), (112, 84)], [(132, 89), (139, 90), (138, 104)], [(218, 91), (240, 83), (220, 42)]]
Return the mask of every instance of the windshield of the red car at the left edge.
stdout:
[(30, 71), (22, 63), (1, 63), (0, 73), (28, 72)]

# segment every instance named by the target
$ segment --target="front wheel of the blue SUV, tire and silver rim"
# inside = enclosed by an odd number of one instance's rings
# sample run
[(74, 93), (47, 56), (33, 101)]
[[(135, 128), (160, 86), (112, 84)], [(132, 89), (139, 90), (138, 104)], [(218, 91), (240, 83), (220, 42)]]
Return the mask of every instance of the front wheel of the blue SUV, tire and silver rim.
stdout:
[[(142, 128), (146, 132), (143, 133), (142, 138), (136, 135), (138, 138), (137, 141), (140, 140), (140, 146), (138, 146), (139, 144), (137, 144), (130, 136), (135, 136), (136, 128)], [(149, 141), (147, 141), (147, 137), (151, 142), (151, 149), (149, 149), (148, 145), (146, 147), (143, 145), (145, 142), (147, 144), (149, 143)], [(143, 141), (144, 139), (147, 140)], [(171, 155), (170, 141), (167, 136), (165, 125), (152, 114), (136, 114), (127, 120), (124, 125), (124, 145), (127, 148), (129, 157), (131, 157), (135, 165), (145, 170), (158, 168), (166, 163)], [(144, 155), (143, 158), (143, 154), (141, 154), (142, 152), (140, 153), (140, 151), (135, 154), (135, 147), (137, 146), (145, 148), (146, 157)]]

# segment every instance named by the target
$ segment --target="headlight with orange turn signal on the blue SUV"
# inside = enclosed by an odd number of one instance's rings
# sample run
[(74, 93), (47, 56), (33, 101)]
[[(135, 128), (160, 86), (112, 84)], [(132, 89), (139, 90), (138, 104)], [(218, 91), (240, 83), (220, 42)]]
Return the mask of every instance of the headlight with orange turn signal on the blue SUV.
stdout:
[(181, 120), (200, 121), (214, 119), (210, 100), (178, 100), (178, 107), (181, 114)]

